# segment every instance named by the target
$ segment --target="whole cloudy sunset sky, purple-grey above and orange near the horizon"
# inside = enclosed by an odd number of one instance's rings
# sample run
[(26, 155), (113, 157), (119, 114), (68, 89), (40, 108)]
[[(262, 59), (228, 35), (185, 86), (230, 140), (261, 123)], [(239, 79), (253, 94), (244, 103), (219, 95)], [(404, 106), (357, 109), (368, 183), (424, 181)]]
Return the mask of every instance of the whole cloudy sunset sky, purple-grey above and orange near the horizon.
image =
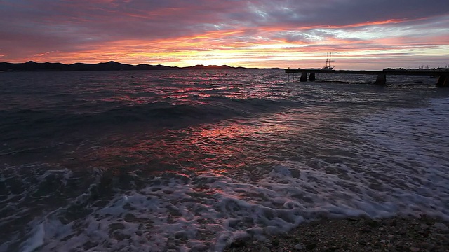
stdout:
[(449, 65), (448, 0), (0, 0), (0, 62)]

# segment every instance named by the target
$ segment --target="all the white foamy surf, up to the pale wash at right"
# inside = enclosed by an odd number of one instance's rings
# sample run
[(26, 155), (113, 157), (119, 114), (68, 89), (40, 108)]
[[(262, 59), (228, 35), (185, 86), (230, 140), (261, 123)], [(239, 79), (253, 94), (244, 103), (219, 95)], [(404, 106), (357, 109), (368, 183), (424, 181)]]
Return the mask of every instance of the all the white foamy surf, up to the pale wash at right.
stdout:
[(24, 251), (221, 251), (234, 239), (264, 239), (322, 216), (449, 219), (448, 104), (435, 99), (348, 123), (360, 139), (354, 157), (279, 162), (258, 181), (213, 173), (155, 178), (65, 224), (58, 219), (67, 209), (58, 209), (36, 224)]

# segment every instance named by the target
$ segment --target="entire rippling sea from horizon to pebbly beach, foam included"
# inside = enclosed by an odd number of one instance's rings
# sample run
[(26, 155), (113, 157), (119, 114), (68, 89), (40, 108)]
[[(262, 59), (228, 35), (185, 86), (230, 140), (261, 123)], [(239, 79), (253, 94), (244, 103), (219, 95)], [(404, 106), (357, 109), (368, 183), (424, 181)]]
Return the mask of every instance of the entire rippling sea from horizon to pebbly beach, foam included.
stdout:
[(449, 219), (449, 89), (282, 69), (0, 73), (0, 251), (222, 251)]

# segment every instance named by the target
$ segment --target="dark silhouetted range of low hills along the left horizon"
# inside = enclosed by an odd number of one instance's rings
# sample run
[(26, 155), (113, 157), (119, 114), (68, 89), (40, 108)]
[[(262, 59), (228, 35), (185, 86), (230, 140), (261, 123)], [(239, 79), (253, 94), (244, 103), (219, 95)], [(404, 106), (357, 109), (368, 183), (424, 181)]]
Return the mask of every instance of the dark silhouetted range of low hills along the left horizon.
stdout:
[(0, 62), (0, 71), (128, 71), (128, 70), (175, 70), (175, 69), (247, 69), (244, 67), (233, 67), (233, 66), (188, 66), (188, 67), (177, 67), (177, 66), (163, 66), (163, 65), (149, 65), (149, 64), (138, 64), (136, 66), (130, 64), (121, 64), (119, 62), (105, 62), (98, 64), (85, 64), (85, 63), (75, 63), (75, 64), (62, 64), (62, 63), (36, 63), (36, 62), (26, 62), (26, 63), (8, 63)]

